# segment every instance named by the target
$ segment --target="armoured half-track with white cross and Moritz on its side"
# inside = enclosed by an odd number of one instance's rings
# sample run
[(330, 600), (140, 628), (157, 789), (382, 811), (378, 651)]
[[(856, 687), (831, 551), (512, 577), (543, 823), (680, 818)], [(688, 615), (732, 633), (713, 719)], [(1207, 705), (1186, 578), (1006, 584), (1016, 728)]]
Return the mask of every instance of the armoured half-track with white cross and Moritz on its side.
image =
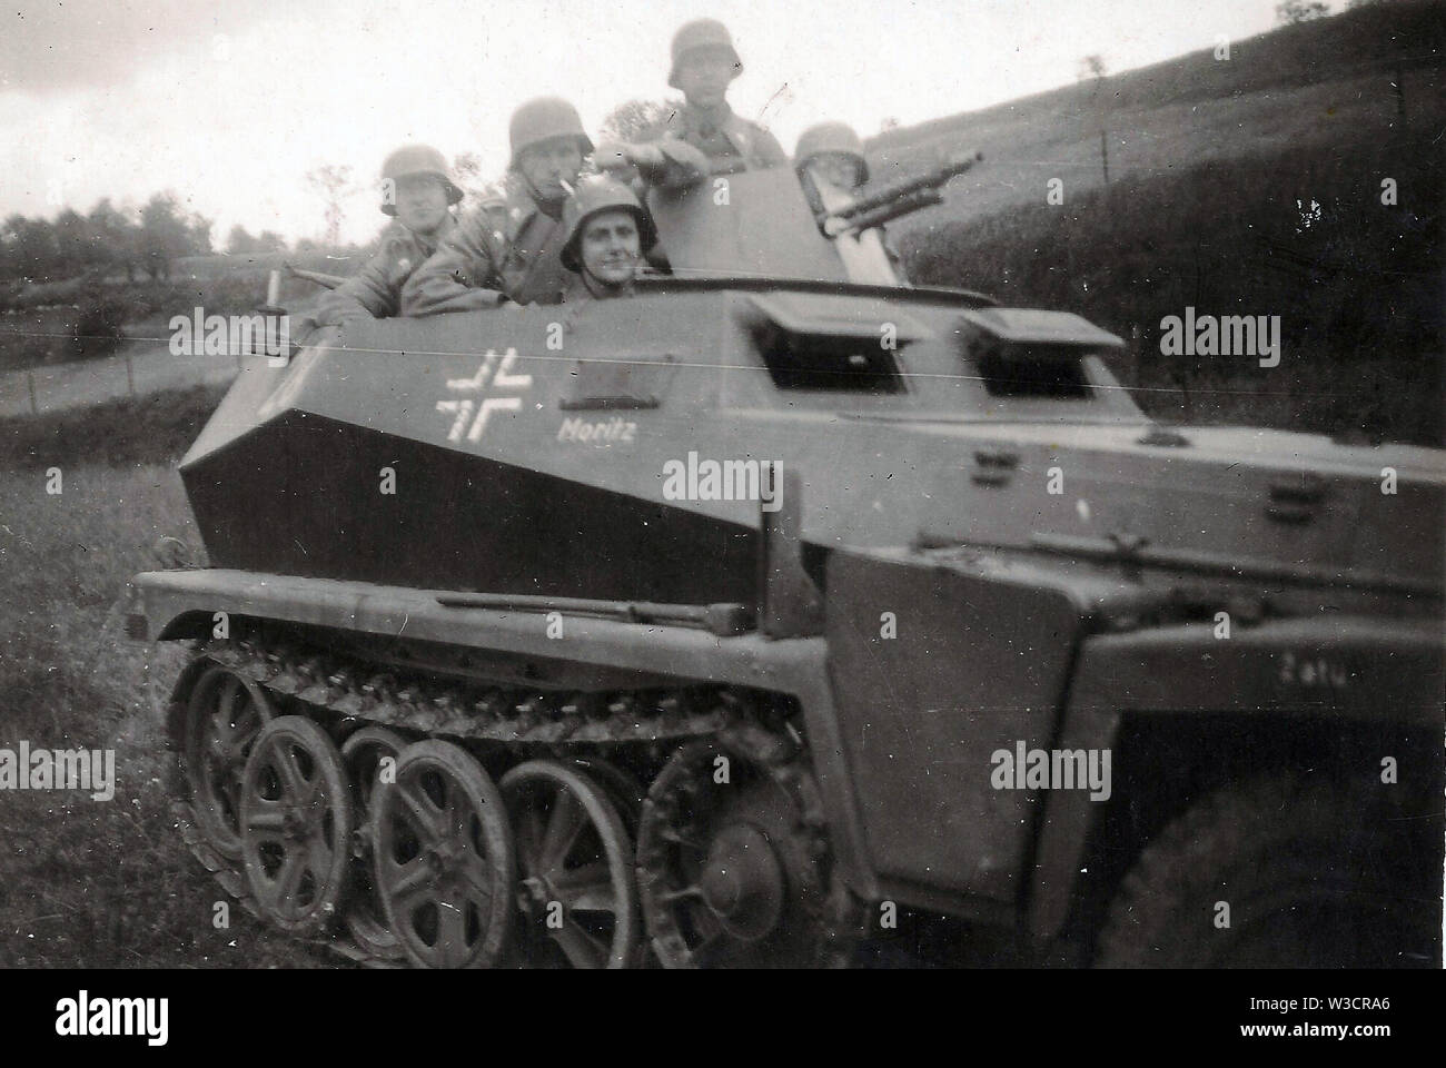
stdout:
[(632, 298), (240, 375), (181, 465), (211, 566), (130, 618), (195, 643), (176, 810), (226, 889), (425, 967), (830, 965), (925, 916), (1439, 965), (1446, 456), (1157, 425), (1115, 336), (727, 184), (654, 194)]

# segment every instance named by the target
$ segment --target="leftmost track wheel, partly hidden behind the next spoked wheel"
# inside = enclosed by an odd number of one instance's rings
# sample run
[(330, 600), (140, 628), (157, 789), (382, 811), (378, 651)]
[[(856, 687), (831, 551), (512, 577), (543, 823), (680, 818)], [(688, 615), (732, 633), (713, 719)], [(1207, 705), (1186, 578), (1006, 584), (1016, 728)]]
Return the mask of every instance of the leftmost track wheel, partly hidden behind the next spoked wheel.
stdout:
[(241, 860), (241, 774), (262, 728), (276, 718), (266, 692), (228, 667), (207, 669), (187, 705), (184, 764), (191, 808), (207, 842)]

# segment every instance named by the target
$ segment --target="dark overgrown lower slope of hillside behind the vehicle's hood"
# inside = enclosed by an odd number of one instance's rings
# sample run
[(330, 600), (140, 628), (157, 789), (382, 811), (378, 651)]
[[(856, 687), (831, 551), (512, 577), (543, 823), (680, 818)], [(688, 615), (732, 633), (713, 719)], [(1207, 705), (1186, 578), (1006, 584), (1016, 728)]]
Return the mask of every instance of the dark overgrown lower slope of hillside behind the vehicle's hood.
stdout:
[[(1131, 174), (1063, 207), (917, 230), (901, 250), (918, 282), (1113, 330), (1129, 342), (1116, 372), (1154, 414), (1440, 444), (1442, 210), (1432, 153), (1358, 132)], [(1161, 356), (1161, 320), (1187, 307), (1280, 315), (1280, 366)]]

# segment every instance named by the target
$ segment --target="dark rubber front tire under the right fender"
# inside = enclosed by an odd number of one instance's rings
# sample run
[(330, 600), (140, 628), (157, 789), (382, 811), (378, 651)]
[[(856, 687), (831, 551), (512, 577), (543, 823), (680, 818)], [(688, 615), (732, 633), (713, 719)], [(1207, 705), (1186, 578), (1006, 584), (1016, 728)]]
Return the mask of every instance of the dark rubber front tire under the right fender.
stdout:
[[(1390, 805), (1374, 803), (1377, 797), (1395, 800), (1339, 783), (1304, 784), (1287, 774), (1210, 794), (1141, 851), (1111, 904), (1093, 967), (1423, 967), (1433, 955), (1439, 961), (1432, 932), (1439, 899), (1429, 889), (1411, 893), (1406, 889), (1411, 880), (1395, 870), (1403, 855), (1420, 860), (1420, 854), (1384, 834), (1411, 821), (1400, 815), (1392, 821)], [(1229, 904), (1228, 929), (1216, 926), (1219, 902)], [(1332, 909), (1342, 906), (1349, 912), (1332, 917)]]

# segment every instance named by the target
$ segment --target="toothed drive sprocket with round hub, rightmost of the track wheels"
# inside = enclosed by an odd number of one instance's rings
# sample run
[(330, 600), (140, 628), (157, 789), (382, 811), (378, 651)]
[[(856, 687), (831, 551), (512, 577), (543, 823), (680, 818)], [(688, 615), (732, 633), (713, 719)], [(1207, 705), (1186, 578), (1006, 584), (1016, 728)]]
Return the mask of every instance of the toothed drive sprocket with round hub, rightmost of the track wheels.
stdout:
[(745, 728), (690, 742), (654, 780), (638, 831), (638, 889), (664, 967), (847, 959), (817, 794), (798, 755)]

